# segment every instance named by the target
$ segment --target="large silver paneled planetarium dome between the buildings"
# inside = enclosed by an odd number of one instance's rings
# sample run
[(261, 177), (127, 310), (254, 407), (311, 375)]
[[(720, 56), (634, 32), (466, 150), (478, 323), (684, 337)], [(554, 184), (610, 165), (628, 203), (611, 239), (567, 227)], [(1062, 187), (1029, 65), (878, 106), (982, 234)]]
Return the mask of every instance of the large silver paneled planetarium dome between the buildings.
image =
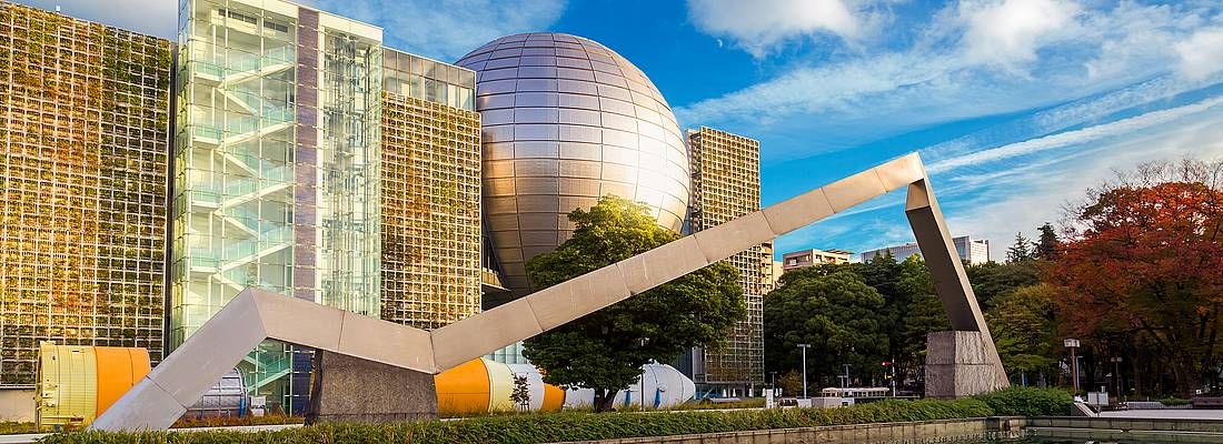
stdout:
[(503, 37), (456, 65), (477, 72), (484, 220), (505, 284), (530, 293), (525, 263), (569, 239), (574, 209), (619, 195), (679, 231), (689, 152), (662, 93), (589, 39)]

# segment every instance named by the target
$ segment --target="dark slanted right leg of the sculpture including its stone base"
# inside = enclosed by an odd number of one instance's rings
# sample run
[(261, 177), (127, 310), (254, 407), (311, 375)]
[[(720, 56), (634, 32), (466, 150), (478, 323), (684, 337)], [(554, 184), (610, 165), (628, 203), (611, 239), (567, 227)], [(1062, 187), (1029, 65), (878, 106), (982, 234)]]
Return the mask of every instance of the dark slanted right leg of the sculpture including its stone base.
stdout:
[(953, 329), (927, 337), (926, 395), (964, 398), (1005, 388), (1007, 372), (989, 326), (927, 179), (909, 185), (905, 216)]

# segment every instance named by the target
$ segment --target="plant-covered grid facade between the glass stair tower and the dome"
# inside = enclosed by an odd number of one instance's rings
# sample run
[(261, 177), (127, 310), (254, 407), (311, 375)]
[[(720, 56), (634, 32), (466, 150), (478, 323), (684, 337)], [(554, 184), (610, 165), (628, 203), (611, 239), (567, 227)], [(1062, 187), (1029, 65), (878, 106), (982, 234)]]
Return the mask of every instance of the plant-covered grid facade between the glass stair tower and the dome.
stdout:
[(479, 312), (476, 73), (383, 50), (382, 317), (437, 328)]

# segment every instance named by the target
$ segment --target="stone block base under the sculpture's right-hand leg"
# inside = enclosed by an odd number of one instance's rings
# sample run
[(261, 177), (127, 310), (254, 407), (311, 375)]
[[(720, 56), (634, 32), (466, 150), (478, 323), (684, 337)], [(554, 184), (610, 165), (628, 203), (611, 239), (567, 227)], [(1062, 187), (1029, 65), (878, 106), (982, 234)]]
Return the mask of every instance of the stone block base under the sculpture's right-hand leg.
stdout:
[(1005, 373), (986, 350), (981, 332), (927, 335), (926, 398), (966, 398), (1005, 388)]

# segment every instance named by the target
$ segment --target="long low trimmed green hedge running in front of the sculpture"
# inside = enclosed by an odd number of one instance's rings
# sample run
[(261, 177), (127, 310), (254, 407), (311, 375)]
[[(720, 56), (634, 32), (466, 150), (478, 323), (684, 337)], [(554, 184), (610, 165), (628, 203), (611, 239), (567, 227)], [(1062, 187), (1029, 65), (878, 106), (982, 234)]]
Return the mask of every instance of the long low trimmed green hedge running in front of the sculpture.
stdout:
[[(487, 416), (461, 421), (386, 424), (319, 424), (275, 432), (78, 432), (54, 434), (44, 443), (553, 443), (630, 437), (717, 433), (770, 428), (859, 424), (986, 417), (998, 415), (1065, 415), (1069, 404), (1054, 403), (1064, 392), (1008, 389), (954, 401), (887, 400), (844, 409), (681, 411), (648, 414), (559, 412)], [(1030, 403), (1030, 404), (1029, 404)], [(1064, 406), (1065, 409), (1060, 409)], [(998, 409), (1004, 409), (999, 412)], [(1043, 410), (1052, 409), (1052, 410)]]

